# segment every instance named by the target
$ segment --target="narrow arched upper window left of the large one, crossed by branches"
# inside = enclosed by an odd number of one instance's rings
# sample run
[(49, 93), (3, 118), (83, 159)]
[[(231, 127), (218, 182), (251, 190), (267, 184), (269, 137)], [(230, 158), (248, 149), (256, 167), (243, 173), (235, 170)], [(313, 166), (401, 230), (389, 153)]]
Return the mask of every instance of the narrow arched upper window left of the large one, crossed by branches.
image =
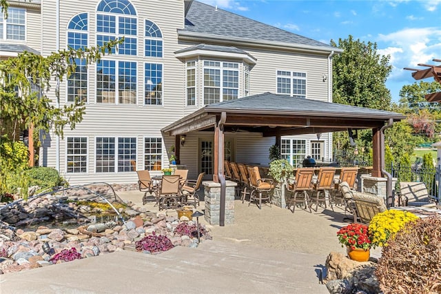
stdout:
[[(68, 48), (88, 47), (88, 14), (76, 14), (68, 23)], [(88, 101), (88, 68), (85, 60), (75, 59), (75, 72), (68, 77), (68, 102)]]

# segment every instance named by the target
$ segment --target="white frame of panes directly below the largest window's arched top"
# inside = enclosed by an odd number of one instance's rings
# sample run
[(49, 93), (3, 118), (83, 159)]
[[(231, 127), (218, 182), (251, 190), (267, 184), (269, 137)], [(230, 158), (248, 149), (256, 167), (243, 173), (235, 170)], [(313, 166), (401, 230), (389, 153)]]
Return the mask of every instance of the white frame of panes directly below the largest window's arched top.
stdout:
[[(115, 32), (99, 32), (98, 29), (98, 14), (115, 17)], [(127, 17), (130, 19), (136, 20), (136, 35), (120, 35), (119, 34), (119, 17)], [(136, 52), (135, 55), (132, 54), (125, 54), (121, 53), (121, 49), (116, 51), (116, 48), (112, 48), (112, 54), (114, 55), (121, 55), (121, 56), (131, 56), (131, 57), (137, 57), (139, 56), (139, 23), (138, 23), (138, 15), (133, 14), (122, 14), (122, 13), (110, 13), (110, 12), (102, 12), (102, 11), (96, 11), (95, 12), (95, 44), (98, 46), (98, 35), (101, 36), (108, 36), (110, 39), (121, 39), (121, 37), (127, 38), (133, 38), (136, 41), (134, 44), (136, 44)], [(104, 45), (104, 44), (103, 44)], [(116, 45), (117, 48), (119, 48), (121, 45)]]

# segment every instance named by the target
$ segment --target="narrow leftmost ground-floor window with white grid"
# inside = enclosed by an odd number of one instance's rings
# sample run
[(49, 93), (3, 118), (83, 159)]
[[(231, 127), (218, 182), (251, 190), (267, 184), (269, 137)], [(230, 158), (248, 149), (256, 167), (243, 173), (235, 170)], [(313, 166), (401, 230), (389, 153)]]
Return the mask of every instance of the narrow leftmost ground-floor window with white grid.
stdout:
[(87, 173), (88, 172), (88, 138), (67, 137), (66, 138), (66, 172)]

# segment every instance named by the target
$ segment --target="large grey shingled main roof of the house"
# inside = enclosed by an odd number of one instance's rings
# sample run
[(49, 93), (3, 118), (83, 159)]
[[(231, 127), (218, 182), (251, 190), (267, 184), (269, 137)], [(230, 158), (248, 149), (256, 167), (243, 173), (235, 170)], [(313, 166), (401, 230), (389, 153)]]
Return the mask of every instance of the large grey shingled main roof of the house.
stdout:
[(185, 28), (178, 30), (181, 35), (197, 33), (213, 37), (240, 38), (249, 41), (268, 41), (297, 44), (302, 47), (314, 47), (323, 50), (340, 49), (328, 44), (296, 35), (274, 26), (269, 26), (253, 19), (234, 14), (207, 4), (193, 1), (185, 17)]

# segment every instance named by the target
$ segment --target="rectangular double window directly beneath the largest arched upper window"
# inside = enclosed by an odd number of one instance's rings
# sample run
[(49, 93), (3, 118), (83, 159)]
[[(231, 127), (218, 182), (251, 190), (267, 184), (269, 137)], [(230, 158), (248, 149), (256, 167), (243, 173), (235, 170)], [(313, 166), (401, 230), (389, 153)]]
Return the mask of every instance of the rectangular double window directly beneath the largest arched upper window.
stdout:
[(96, 102), (116, 101), (118, 104), (136, 104), (136, 62), (101, 60), (96, 63)]

